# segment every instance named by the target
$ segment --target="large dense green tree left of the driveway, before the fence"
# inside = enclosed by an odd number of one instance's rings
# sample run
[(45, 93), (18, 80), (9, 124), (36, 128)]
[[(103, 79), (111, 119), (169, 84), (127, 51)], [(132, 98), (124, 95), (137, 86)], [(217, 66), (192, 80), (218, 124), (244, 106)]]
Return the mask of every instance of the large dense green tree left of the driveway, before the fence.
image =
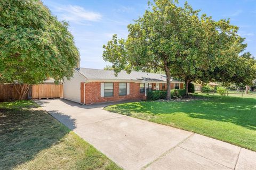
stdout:
[(79, 52), (68, 23), (58, 21), (39, 0), (0, 1), (0, 82), (22, 85), (73, 75)]

